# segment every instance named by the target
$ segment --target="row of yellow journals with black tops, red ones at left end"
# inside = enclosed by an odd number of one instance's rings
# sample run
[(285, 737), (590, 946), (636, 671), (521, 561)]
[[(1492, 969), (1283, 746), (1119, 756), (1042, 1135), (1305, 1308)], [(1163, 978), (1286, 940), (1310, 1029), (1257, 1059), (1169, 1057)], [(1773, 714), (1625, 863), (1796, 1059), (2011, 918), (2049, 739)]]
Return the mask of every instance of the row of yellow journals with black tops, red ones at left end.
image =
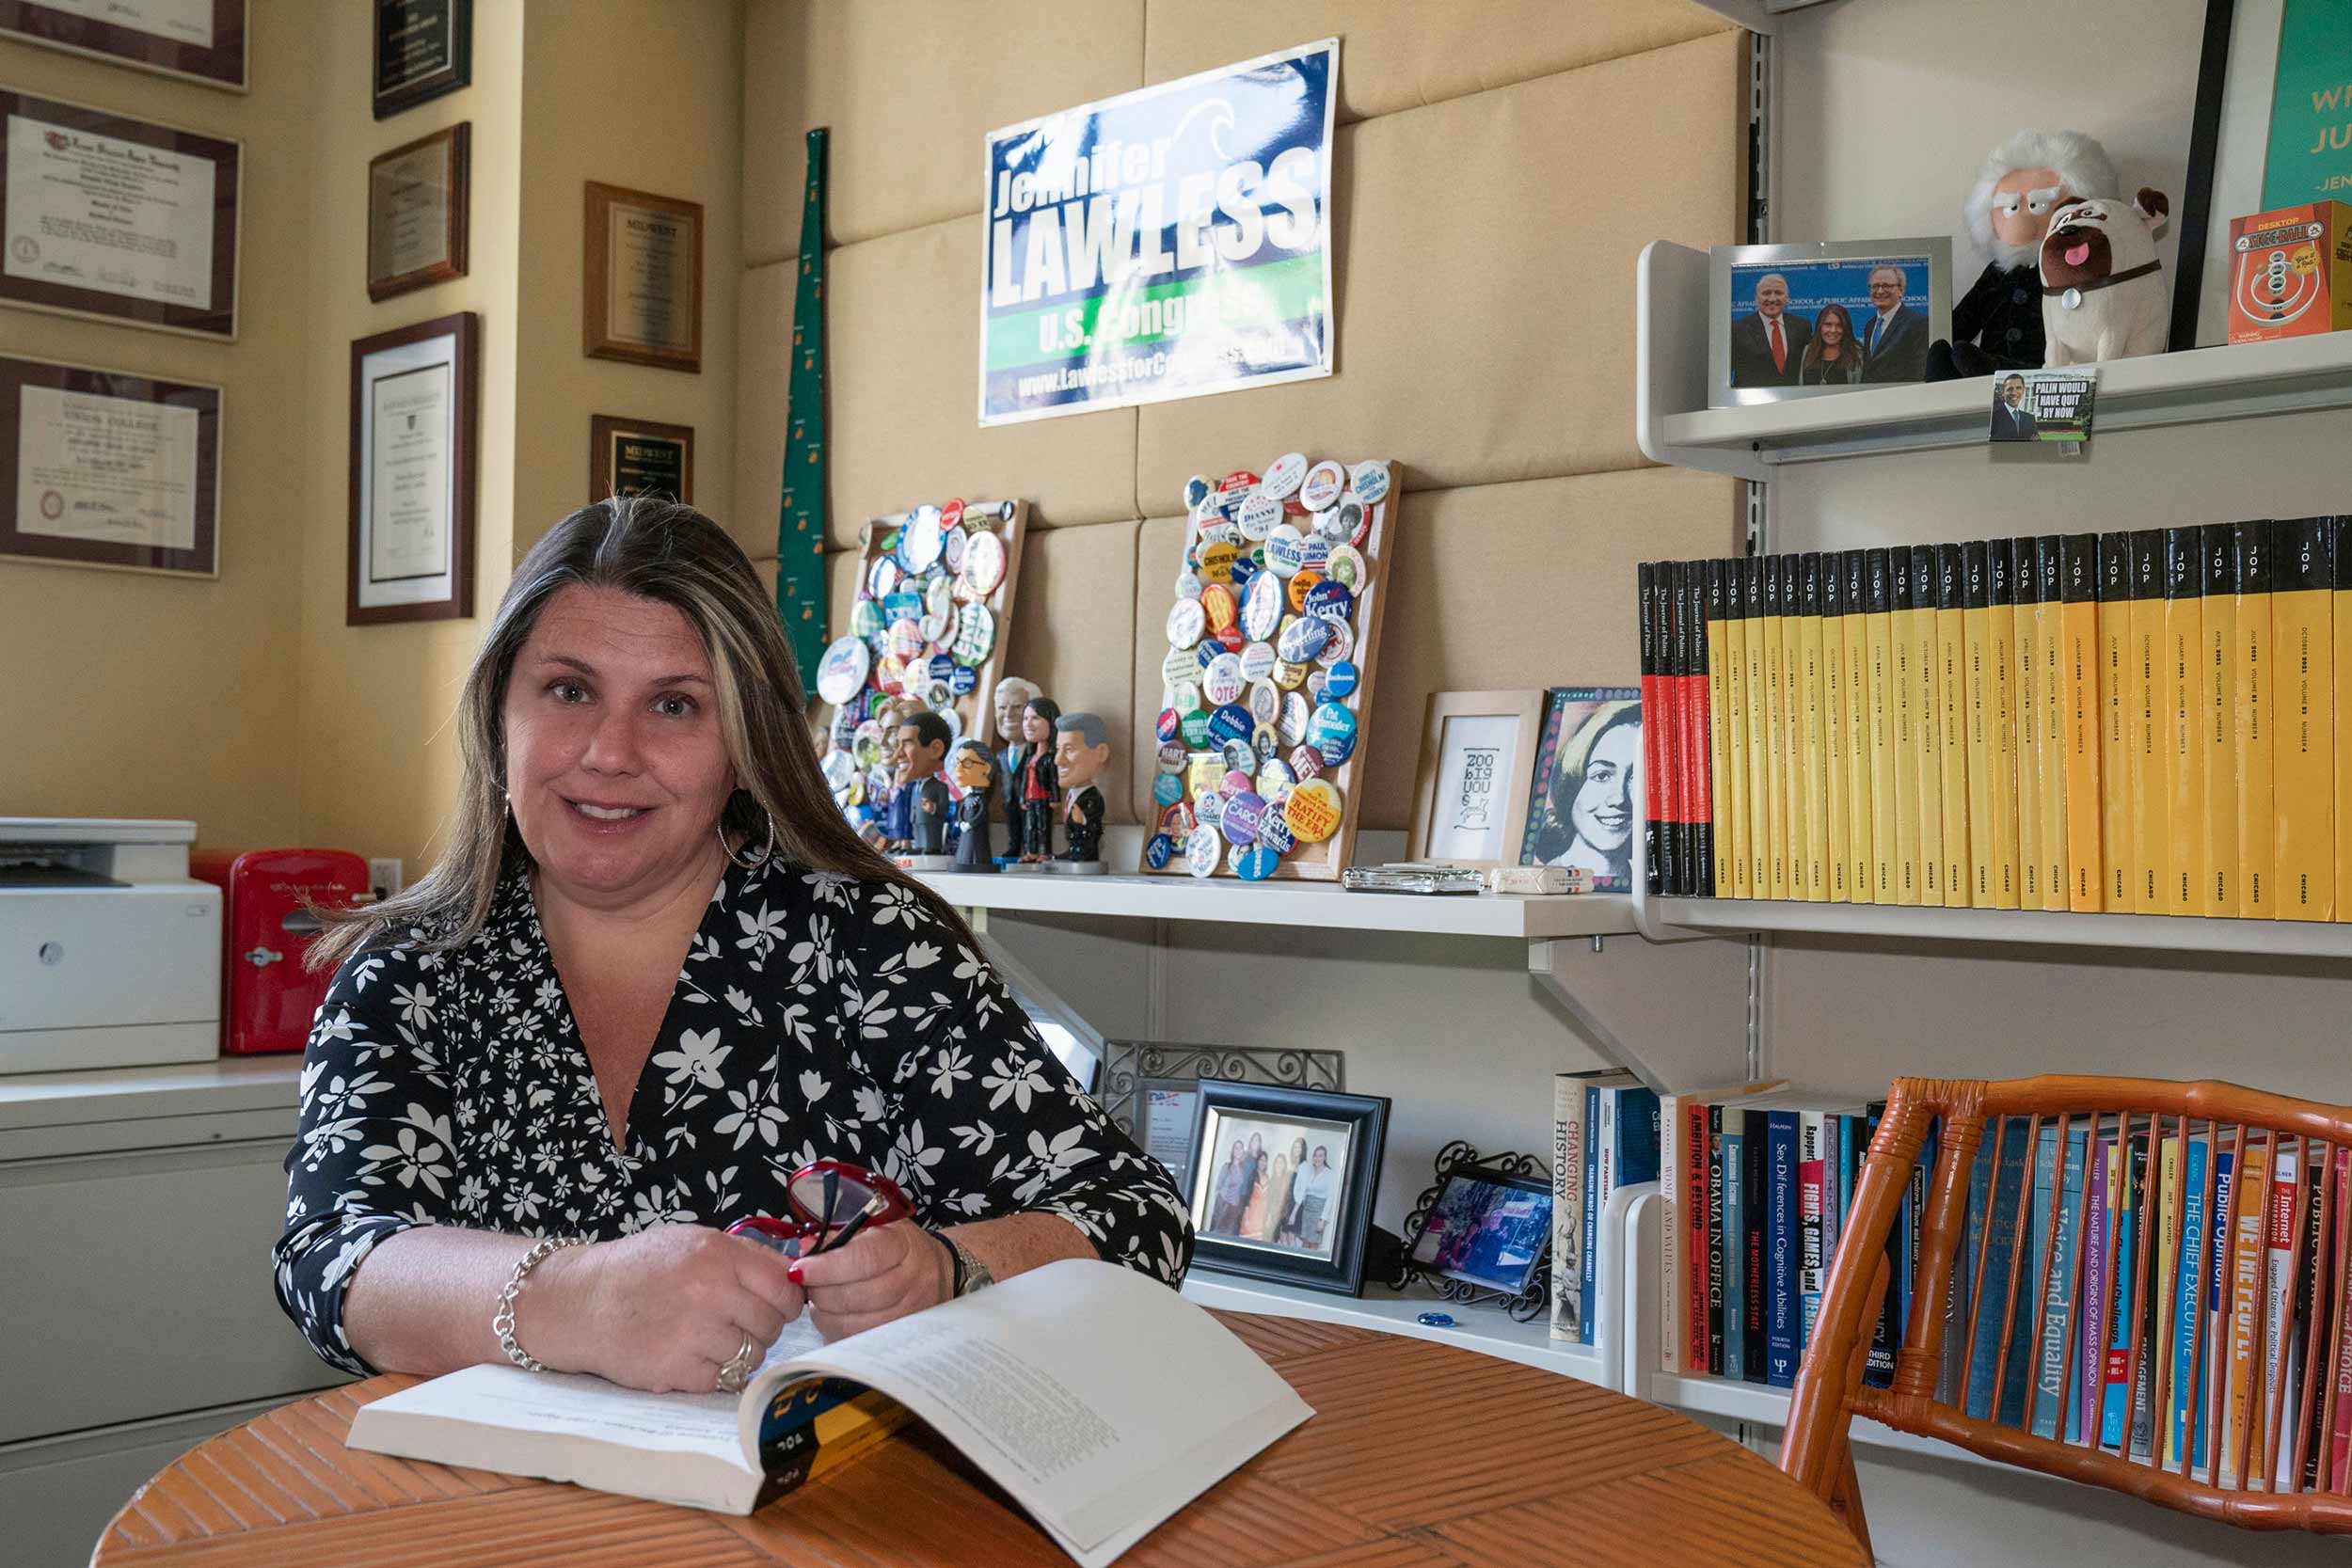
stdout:
[(1639, 592), (1651, 893), (2352, 922), (2352, 517)]

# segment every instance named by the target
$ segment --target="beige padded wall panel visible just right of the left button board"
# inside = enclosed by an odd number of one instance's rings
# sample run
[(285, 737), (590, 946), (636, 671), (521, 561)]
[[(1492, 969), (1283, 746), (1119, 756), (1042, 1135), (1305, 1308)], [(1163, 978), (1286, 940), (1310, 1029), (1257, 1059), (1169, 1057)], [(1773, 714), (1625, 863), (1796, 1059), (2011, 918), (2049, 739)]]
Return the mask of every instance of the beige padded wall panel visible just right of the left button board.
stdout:
[[(1098, 712), (1110, 729), (1103, 802), (1110, 820), (1127, 813), (1136, 750), (1134, 693), (1127, 679), (1136, 642), (1136, 522), (1030, 534), (1021, 545), (1018, 604), (1000, 675), (1021, 675), (1063, 712)], [(1145, 783), (1150, 773), (1145, 773)]]

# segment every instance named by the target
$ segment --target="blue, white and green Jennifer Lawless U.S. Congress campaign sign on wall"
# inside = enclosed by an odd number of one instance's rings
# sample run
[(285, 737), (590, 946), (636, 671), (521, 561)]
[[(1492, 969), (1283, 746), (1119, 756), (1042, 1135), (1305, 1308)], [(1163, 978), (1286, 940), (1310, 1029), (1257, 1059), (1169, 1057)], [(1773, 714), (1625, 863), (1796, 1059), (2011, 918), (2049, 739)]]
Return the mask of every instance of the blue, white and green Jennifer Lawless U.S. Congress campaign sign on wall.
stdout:
[(1338, 40), (988, 136), (981, 423), (1331, 374)]

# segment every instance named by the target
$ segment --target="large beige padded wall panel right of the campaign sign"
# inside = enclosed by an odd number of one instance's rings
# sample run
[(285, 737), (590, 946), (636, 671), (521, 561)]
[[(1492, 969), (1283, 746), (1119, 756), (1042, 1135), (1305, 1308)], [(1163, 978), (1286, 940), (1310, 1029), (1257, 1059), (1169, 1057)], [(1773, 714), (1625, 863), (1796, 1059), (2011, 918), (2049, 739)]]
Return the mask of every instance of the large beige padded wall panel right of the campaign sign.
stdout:
[(1338, 374), (1145, 407), (1143, 508), (1209, 451), (1390, 456), (1430, 489), (1642, 463), (1635, 259), (1738, 233), (1740, 38), (1343, 129)]

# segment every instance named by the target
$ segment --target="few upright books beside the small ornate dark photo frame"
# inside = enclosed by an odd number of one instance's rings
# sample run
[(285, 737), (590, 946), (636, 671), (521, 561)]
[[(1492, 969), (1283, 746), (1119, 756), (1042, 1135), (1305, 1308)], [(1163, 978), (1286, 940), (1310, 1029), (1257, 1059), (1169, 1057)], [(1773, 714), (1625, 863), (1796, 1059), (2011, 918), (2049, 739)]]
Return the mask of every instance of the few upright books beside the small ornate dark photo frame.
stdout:
[(1658, 1095), (1630, 1072), (1552, 1079), (1552, 1338), (1592, 1342), (1599, 1215), (1658, 1180)]

